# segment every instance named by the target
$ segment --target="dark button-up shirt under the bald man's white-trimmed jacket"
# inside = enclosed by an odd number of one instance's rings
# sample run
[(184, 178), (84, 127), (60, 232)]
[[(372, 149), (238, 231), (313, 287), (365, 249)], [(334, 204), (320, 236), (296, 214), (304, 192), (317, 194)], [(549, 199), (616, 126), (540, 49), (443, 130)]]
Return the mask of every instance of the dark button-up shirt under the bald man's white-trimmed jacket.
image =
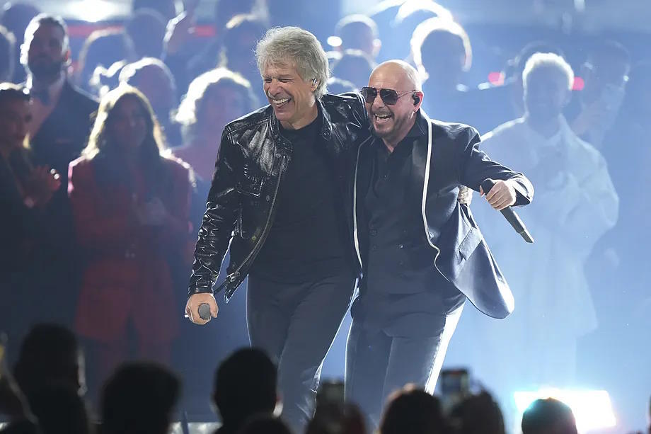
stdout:
[(362, 181), (369, 185), (362, 212), (368, 244), (361, 246), (364, 277), (352, 315), (390, 336), (430, 336), (436, 331), (423, 325), (434, 324), (434, 316), (465, 299), (434, 268), (436, 251), (425, 236), (422, 187), (413, 183), (412, 173), (413, 147), (423, 136), (427, 120), (419, 113), (393, 152), (376, 137), (370, 183)]

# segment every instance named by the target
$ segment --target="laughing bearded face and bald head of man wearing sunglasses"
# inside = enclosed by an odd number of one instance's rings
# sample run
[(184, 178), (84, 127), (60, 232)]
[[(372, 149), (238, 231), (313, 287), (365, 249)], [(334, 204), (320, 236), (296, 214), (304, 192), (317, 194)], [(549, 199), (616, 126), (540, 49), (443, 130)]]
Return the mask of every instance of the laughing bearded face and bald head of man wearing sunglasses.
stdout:
[[(369, 120), (375, 135), (387, 144), (398, 144), (409, 132), (415, 120), (415, 113), (422, 103), (422, 92), (413, 91), (417, 86), (405, 73), (403, 66), (396, 63), (381, 64), (369, 78), (369, 87), (393, 89), (398, 92), (398, 102), (386, 105), (380, 96), (372, 103), (366, 103)], [(413, 94), (418, 97), (416, 103)]]

